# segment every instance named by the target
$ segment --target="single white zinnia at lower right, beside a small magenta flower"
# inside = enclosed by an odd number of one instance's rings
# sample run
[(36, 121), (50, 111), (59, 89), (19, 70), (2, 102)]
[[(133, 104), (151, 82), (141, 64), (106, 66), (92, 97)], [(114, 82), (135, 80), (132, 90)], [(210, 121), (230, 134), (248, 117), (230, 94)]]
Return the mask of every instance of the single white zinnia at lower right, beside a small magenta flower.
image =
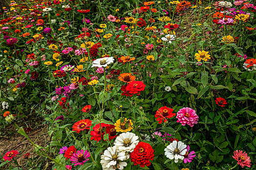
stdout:
[(177, 142), (174, 140), (170, 145), (165, 148), (165, 155), (169, 159), (174, 159), (174, 162), (177, 163), (180, 160), (184, 159), (184, 156), (187, 152), (187, 145), (183, 142)]

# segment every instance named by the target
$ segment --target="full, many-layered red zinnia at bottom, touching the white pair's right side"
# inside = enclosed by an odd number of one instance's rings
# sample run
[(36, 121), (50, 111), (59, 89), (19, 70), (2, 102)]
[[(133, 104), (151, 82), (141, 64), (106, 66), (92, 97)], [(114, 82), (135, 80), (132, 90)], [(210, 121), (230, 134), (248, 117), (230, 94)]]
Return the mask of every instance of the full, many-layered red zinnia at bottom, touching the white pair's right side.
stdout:
[(152, 147), (145, 142), (139, 142), (134, 148), (133, 152), (130, 153), (130, 161), (134, 162), (134, 165), (140, 165), (140, 167), (149, 166), (151, 162), (149, 160), (154, 159), (154, 150)]

